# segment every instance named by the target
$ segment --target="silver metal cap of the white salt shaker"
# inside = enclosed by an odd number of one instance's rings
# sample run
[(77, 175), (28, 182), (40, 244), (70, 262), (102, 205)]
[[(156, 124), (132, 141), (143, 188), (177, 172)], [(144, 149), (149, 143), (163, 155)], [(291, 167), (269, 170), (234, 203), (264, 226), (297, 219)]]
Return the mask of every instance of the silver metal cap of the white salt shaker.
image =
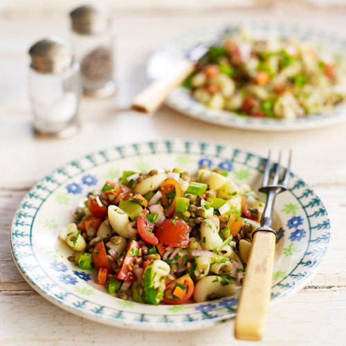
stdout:
[(41, 73), (62, 73), (73, 64), (71, 43), (61, 37), (48, 37), (29, 50), (31, 67)]

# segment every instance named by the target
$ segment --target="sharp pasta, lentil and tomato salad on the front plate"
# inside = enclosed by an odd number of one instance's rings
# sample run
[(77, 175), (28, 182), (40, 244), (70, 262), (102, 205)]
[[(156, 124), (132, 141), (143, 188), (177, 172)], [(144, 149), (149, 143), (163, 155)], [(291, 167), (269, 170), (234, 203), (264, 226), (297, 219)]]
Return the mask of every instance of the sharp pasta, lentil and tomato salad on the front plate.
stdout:
[(69, 260), (98, 271), (111, 295), (157, 305), (233, 295), (264, 205), (247, 184), (202, 167), (129, 172), (106, 181), (62, 226)]

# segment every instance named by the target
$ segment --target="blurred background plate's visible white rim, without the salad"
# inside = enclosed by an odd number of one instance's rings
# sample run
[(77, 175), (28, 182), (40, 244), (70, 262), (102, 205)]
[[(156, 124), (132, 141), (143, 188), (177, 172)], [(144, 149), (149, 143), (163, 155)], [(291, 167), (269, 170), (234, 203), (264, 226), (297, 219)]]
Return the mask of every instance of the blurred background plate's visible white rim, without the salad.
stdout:
[[(298, 28), (297, 26), (283, 26), (276, 24), (245, 24), (259, 37), (264, 37), (268, 33), (275, 33), (282, 37), (295, 37), (302, 41), (311, 42), (318, 50), (327, 50), (338, 54), (340, 57), (346, 56), (345, 38), (335, 35), (335, 33), (326, 33), (325, 31), (316, 31), (311, 28)], [(229, 28), (229, 27), (228, 27)], [(149, 82), (165, 75), (170, 71), (174, 62), (186, 57), (187, 53), (197, 44), (214, 42), (221, 37), (226, 27), (208, 27), (201, 28), (192, 33), (187, 33), (183, 37), (174, 39), (165, 46), (158, 48), (150, 57), (147, 63), (147, 79)], [(329, 114), (316, 114), (299, 118), (297, 120), (280, 120), (271, 118), (255, 118), (238, 116), (236, 113), (226, 110), (209, 109), (197, 100), (194, 100), (190, 91), (179, 87), (175, 89), (166, 100), (166, 104), (176, 111), (179, 111), (192, 118), (212, 122), (217, 125), (237, 127), (239, 129), (251, 129), (260, 131), (296, 131), (302, 129), (313, 129), (324, 127), (346, 120), (346, 102), (338, 104)]]

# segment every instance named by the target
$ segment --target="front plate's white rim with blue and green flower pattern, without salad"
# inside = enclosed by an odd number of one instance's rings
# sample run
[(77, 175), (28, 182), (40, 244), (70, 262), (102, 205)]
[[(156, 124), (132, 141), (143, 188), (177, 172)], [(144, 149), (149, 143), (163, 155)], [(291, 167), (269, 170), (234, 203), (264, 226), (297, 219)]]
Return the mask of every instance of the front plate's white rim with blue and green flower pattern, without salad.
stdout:
[[(264, 158), (228, 145), (161, 141), (113, 147), (68, 163), (39, 181), (24, 197), (12, 224), (12, 252), (19, 271), (44, 298), (85, 318), (134, 329), (198, 329), (235, 316), (239, 291), (210, 302), (158, 307), (121, 300), (95, 284), (94, 271), (69, 262), (69, 246), (57, 239), (60, 226), (71, 222), (70, 211), (106, 179), (122, 170), (202, 165), (221, 167), (239, 183), (260, 186)], [(325, 255), (330, 240), (327, 211), (316, 194), (291, 174), (289, 191), (277, 197), (276, 246), (272, 301), (299, 289)], [(35, 313), (35, 311), (33, 312)]]

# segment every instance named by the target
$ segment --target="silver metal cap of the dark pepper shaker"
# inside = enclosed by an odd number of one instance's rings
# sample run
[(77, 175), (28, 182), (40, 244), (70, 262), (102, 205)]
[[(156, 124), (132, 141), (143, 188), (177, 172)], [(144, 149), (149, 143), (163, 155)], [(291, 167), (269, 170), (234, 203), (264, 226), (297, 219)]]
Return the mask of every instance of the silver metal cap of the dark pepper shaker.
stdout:
[(70, 13), (72, 30), (81, 35), (102, 33), (111, 25), (109, 9), (100, 5), (84, 5)]

